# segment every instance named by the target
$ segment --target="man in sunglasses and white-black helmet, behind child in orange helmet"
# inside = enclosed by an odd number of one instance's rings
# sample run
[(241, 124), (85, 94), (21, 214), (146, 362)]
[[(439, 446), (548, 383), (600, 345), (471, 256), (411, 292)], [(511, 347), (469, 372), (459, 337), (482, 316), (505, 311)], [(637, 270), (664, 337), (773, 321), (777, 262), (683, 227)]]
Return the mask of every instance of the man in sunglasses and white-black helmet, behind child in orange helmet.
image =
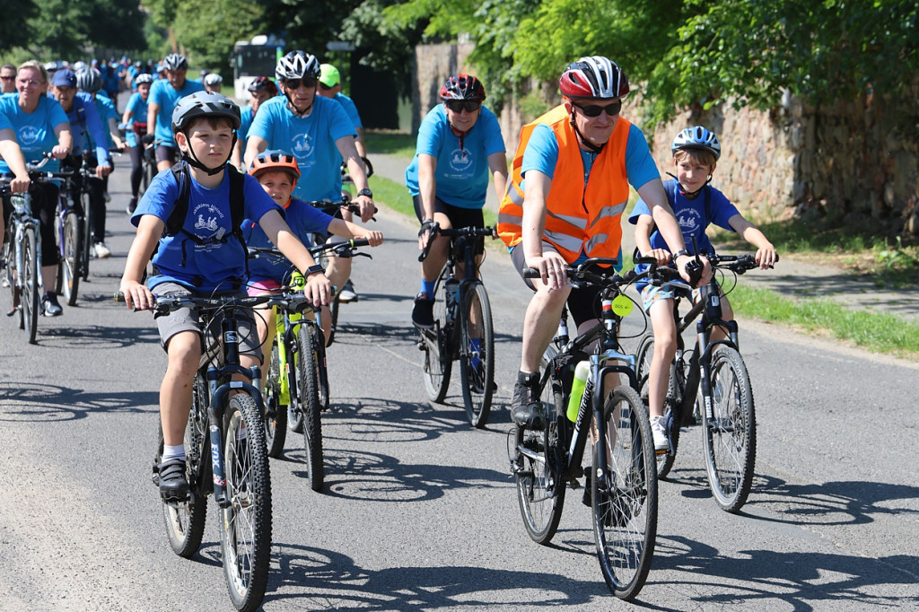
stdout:
[[(340, 104), (316, 96), (319, 74), (319, 61), (304, 51), (290, 51), (278, 60), (275, 77), (283, 96), (275, 96), (258, 108), (246, 139), (245, 165), (251, 167), (255, 157), (268, 148), (289, 151), (297, 160), (301, 176), (293, 197), (335, 201), (341, 199), (344, 160), (357, 187), (354, 202), (360, 206), (361, 220), (366, 222), (375, 208), (364, 163), (355, 146), (357, 132)], [(335, 214), (346, 221), (351, 221), (350, 215)], [(333, 285), (344, 287), (351, 276), (351, 259), (332, 257), (325, 272)]]

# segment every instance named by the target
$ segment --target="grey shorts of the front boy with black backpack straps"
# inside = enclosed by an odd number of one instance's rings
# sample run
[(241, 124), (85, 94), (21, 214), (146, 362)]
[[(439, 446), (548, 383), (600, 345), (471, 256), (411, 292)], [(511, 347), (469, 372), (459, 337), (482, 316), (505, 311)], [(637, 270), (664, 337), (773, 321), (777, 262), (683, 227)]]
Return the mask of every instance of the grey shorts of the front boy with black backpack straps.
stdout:
[[(202, 295), (199, 291), (192, 291), (177, 283), (160, 283), (153, 288), (155, 295)], [(221, 291), (214, 294), (232, 295), (246, 297), (245, 290)], [(259, 363), (262, 362), (262, 346), (258, 342), (258, 332), (255, 329), (255, 313), (251, 309), (245, 309), (236, 312), (237, 332), (239, 333), (239, 352), (240, 354), (252, 355), (258, 357)], [(177, 311), (155, 317), (156, 327), (160, 332), (160, 346), (165, 350), (169, 344), (170, 338), (179, 332), (196, 332), (201, 336), (201, 351), (206, 349), (203, 341), (201, 322), (199, 312), (188, 308), (180, 308)], [(213, 345), (221, 334), (220, 317), (214, 317), (208, 328), (208, 346)]]

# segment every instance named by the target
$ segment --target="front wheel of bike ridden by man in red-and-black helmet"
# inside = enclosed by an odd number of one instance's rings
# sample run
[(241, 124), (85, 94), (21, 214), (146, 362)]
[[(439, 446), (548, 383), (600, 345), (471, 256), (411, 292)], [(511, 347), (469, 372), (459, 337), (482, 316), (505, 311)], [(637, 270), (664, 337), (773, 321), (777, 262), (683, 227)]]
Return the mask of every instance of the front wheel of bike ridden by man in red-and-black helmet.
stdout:
[[(492, 306), (488, 292), (481, 281), (472, 283), (463, 294), (462, 317), (459, 333), (459, 380), (462, 380), (462, 400), (466, 415), (473, 427), (482, 428), (488, 423), (494, 392), (494, 326)], [(471, 314), (477, 312), (479, 320), (478, 364), (472, 355)]]

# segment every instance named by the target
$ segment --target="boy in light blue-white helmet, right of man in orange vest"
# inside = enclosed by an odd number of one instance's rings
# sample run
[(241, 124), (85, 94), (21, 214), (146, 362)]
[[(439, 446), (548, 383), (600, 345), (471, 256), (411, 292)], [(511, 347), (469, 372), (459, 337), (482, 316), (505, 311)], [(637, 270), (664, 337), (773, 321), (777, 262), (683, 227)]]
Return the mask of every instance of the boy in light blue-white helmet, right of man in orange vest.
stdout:
[[(734, 205), (718, 189), (711, 187), (711, 175), (721, 154), (718, 137), (702, 127), (686, 128), (671, 145), (674, 154), (676, 176), (664, 183), (664, 192), (674, 210), (676, 221), (683, 231), (687, 247), (693, 238), (699, 253), (712, 253), (709, 237), (705, 235), (709, 224), (715, 223), (725, 230), (732, 230), (756, 247), (756, 263), (761, 268), (773, 266), (778, 255), (776, 248), (766, 239), (763, 232), (743, 218)], [(673, 175), (671, 175), (673, 176)], [(654, 228), (654, 221), (647, 204), (639, 200), (629, 217), (635, 225), (635, 244), (645, 257), (656, 257), (661, 266), (671, 262), (671, 254), (663, 236)], [(683, 255), (681, 252), (677, 255)], [(641, 272), (639, 266), (638, 271)], [(671, 289), (644, 284), (639, 287), (644, 301), (644, 310), (651, 315), (654, 333), (654, 355), (648, 375), (648, 407), (651, 414), (651, 430), (654, 450), (666, 452), (667, 438), (664, 426), (664, 396), (667, 391), (670, 362), (676, 353), (676, 323), (674, 322), (674, 292)], [(694, 295), (695, 297), (695, 295)], [(721, 311), (725, 321), (733, 319), (731, 304), (721, 295)], [(723, 334), (714, 330), (712, 339)]]

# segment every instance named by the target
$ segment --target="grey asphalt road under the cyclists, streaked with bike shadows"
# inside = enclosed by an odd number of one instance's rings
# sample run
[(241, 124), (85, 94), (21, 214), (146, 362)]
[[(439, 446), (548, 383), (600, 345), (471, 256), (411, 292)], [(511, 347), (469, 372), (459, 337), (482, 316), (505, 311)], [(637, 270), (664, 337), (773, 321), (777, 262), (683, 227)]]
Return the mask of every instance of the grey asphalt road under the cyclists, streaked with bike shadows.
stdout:
[[(0, 609), (231, 608), (212, 501), (199, 555), (180, 559), (150, 482), (165, 356), (150, 314), (110, 297), (133, 233), (128, 164), (110, 188), (114, 255), (92, 262), (78, 306), (40, 319), (38, 346), (0, 317)], [(491, 252), (484, 268), (500, 409), (473, 430), (456, 384), (446, 404), (425, 399), (409, 323), (414, 224), (383, 210), (377, 226), (386, 243), (373, 261), (357, 260), (360, 300), (342, 308), (329, 353), (325, 492), (309, 488), (300, 436), (271, 461), (265, 609), (630, 608), (607, 591), (579, 495), (569, 495), (551, 546), (521, 524), (504, 406), (528, 292), (507, 258)], [(685, 432), (673, 480), (660, 485), (657, 550), (638, 603), (919, 607), (916, 366), (764, 323), (741, 327), (758, 415), (753, 493), (741, 515), (721, 512), (701, 433)]]

